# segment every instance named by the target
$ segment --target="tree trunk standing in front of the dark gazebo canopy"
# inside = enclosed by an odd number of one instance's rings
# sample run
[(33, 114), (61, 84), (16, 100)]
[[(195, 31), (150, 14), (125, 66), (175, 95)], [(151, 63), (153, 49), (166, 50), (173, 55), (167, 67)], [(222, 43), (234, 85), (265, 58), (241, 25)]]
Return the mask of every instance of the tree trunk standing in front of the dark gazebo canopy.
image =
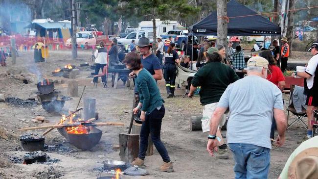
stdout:
[(227, 1), (217, 0), (216, 3), (217, 17), (219, 17), (217, 43), (224, 45), (224, 47), (227, 49)]

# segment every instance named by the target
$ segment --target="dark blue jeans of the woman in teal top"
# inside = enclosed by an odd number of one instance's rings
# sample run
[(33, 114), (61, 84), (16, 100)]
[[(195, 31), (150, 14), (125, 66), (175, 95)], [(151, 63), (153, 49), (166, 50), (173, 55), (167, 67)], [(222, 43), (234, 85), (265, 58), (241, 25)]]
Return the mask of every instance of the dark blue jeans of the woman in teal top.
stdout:
[(142, 123), (140, 130), (140, 145), (138, 158), (144, 160), (148, 146), (148, 136), (151, 135), (151, 140), (154, 143), (157, 151), (164, 162), (170, 162), (170, 157), (166, 148), (160, 140), (161, 122), (164, 117), (164, 105), (158, 110), (157, 108), (150, 114), (146, 114), (145, 121)]

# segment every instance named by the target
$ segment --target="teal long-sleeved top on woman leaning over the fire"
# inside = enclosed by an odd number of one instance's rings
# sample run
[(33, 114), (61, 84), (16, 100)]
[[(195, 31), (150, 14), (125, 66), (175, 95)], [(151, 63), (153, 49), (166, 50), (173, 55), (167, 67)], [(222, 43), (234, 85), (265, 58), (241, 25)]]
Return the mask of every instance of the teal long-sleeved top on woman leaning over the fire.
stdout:
[(142, 111), (149, 114), (163, 104), (156, 80), (146, 69), (142, 69), (136, 77), (136, 87), (139, 92), (139, 102), (142, 103)]

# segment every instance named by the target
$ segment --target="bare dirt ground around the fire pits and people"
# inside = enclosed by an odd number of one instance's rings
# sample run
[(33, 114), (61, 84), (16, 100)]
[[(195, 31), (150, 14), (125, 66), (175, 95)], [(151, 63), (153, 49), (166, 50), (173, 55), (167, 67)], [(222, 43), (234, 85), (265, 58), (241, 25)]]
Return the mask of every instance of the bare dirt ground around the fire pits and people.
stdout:
[[(295, 52), (295, 58), (291, 60), (307, 62), (310, 57), (310, 53)], [(16, 65), (12, 65), (11, 58), (8, 58), (7, 66), (0, 67), (0, 93), (4, 93), (6, 97), (36, 98), (37, 74), (41, 73), (42, 78), (67, 81), (70, 79), (53, 77), (50, 74), (54, 69), (68, 63), (79, 66), (84, 62), (91, 64), (91, 51), (79, 51), (77, 60), (71, 60), (70, 51), (52, 51), (46, 63), (38, 64), (34, 63), (33, 52), (19, 52)], [(8, 70), (11, 74), (19, 74), (21, 71), (28, 78), (29, 83), (24, 84), (14, 75), (6, 75)], [(125, 126), (98, 127), (103, 131), (102, 138), (89, 151), (76, 149), (55, 129), (45, 136), (45, 144), (61, 144), (68, 150), (46, 153), (51, 159), (59, 159), (59, 161), (31, 165), (25, 165), (22, 162), (13, 163), (12, 158), (22, 158), (25, 153), (19, 143), (19, 135), (24, 132), (18, 132), (18, 128), (52, 125), (57, 123), (61, 116), (47, 113), (41, 105), (15, 107), (7, 102), (0, 102), (0, 179), (96, 179), (99, 173), (98, 168), (102, 166), (104, 160), (120, 160), (119, 151), (113, 150), (113, 145), (118, 145), (118, 133), (127, 132), (131, 116), (127, 112), (131, 111), (133, 90), (123, 86), (122, 82), (119, 82), (118, 88), (114, 89), (110, 87), (110, 79), (108, 88), (102, 88), (101, 83), (94, 88), (91, 83), (92, 78), (88, 78), (91, 72), (92, 70), (88, 68), (80, 69), (80, 75), (76, 79), (79, 81), (79, 94), (83, 86), (87, 85), (84, 96), (96, 98), (96, 110), (99, 112), (100, 122), (123, 122)], [(32, 80), (33, 82), (31, 82)], [(164, 81), (160, 80), (158, 85), (165, 98)], [(59, 82), (55, 84), (55, 89), (60, 91), (60, 94), (68, 96), (65, 84)], [(177, 90), (177, 98), (165, 99), (166, 113), (161, 129), (161, 139), (174, 162), (175, 172), (162, 173), (156, 170), (161, 164), (161, 159), (159, 153), (154, 150), (154, 155), (147, 156), (145, 160), (149, 175), (144, 177), (122, 176), (122, 179), (229, 179), (234, 177), (232, 155), (229, 154), (230, 157), (227, 160), (209, 156), (205, 149), (207, 134), (190, 130), (190, 117), (201, 115), (202, 106), (198, 96), (193, 99), (182, 98), (184, 92), (184, 90)], [(72, 97), (72, 100), (66, 101), (63, 109), (74, 110), (78, 100), (79, 97)], [(83, 106), (82, 102), (81, 106)], [(32, 122), (31, 119), (36, 116), (44, 116), (49, 123)], [(33, 132), (42, 133), (43, 131)], [(223, 131), (224, 135), (225, 133), (226, 131)], [(273, 147), (270, 179), (276, 179), (279, 176), (287, 158), (301, 142), (306, 140), (305, 137), (305, 128), (297, 124), (287, 131), (286, 144), (283, 147)]]

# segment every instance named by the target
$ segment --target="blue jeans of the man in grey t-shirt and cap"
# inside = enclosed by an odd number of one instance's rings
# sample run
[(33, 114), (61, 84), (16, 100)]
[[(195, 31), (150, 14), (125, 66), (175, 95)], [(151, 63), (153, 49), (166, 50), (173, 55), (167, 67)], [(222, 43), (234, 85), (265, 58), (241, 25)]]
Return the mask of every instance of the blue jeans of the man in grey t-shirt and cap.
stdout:
[(267, 179), (270, 169), (270, 149), (252, 144), (229, 143), (235, 160), (235, 179)]

